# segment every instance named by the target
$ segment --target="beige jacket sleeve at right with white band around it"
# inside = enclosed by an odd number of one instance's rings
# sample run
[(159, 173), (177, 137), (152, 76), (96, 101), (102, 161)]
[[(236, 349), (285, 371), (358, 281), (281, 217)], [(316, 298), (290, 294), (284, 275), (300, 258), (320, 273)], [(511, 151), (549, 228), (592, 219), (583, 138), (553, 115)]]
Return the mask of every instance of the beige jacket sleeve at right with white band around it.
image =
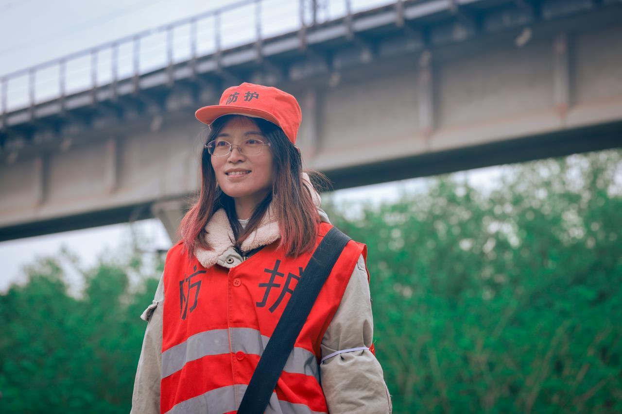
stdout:
[[(322, 359), (333, 352), (370, 347), (373, 329), (369, 283), (361, 255), (322, 339)], [(392, 411), (383, 369), (368, 349), (343, 352), (323, 360), (320, 379), (330, 414)]]

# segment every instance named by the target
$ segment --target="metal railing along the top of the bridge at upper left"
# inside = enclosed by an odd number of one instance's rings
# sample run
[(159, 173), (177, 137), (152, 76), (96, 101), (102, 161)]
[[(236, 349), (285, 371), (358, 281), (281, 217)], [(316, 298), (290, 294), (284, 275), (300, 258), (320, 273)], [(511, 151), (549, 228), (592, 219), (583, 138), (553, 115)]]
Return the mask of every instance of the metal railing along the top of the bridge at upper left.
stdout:
[(241, 0), (4, 75), (0, 114), (396, 2)]

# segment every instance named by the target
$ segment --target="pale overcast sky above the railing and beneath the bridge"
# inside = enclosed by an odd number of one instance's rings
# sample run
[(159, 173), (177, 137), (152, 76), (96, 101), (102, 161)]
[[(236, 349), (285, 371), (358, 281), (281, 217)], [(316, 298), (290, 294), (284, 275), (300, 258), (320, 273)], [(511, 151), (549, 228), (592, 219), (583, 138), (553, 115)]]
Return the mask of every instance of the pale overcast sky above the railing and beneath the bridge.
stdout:
[[(291, 4), (285, 0), (269, 0), (269, 4)], [(386, 1), (353, 1), (355, 7), (381, 4)], [(214, 9), (225, 0), (0, 0), (0, 76), (38, 63), (85, 50), (121, 37), (152, 29), (184, 17)], [(333, 12), (338, 11), (333, 9)], [(481, 188), (494, 185), (500, 169), (480, 168), (462, 173)], [(425, 178), (399, 183), (359, 187), (338, 191), (337, 200), (391, 200), (401, 190), (424, 185)], [(167, 248), (169, 239), (156, 219), (134, 225), (152, 239), (149, 248)], [(128, 224), (63, 232), (0, 242), (0, 292), (13, 282), (24, 282), (24, 264), (35, 257), (55, 255), (62, 246), (77, 254), (85, 265), (96, 263), (100, 255), (110, 254), (130, 235)]]

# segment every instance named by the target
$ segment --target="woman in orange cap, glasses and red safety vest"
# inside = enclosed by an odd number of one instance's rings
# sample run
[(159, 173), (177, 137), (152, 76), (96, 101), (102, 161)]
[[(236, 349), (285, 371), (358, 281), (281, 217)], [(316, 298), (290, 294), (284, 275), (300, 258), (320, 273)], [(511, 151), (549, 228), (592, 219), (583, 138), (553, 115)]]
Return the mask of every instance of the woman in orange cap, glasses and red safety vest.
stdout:
[[(196, 116), (211, 127), (200, 196), (141, 315), (148, 323), (132, 413), (236, 412), (305, 265), (332, 227), (294, 145), (301, 121), (294, 96), (242, 83)], [(355, 241), (341, 252), (267, 413), (391, 412), (373, 354), (365, 256)]]

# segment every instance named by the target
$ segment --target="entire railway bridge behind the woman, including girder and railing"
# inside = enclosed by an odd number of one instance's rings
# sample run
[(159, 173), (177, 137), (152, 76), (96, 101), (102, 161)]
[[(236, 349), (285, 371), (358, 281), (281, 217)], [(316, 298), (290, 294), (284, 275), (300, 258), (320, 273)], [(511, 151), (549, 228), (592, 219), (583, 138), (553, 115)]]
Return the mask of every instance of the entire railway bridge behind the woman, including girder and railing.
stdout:
[(0, 240), (149, 217), (174, 238), (193, 113), (241, 81), (299, 99), (335, 188), (620, 147), (621, 1), (363, 3), (240, 1), (0, 78)]

